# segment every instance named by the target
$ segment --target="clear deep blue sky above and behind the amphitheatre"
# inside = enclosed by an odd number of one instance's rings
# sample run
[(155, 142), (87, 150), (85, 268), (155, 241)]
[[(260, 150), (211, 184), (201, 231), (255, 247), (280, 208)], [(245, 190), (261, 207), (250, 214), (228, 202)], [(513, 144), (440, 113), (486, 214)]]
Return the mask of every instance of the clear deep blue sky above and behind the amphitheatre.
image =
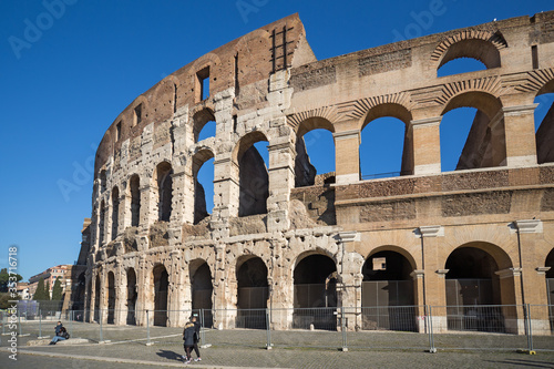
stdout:
[[(24, 280), (73, 264), (91, 216), (95, 148), (113, 120), (164, 76), (259, 27), (298, 12), (321, 60), (552, 9), (551, 0), (2, 0), (0, 267), (11, 245)], [(332, 145), (314, 134), (307, 142)], [(310, 150), (314, 163), (325, 161)], [(330, 162), (316, 166), (332, 171)], [(382, 162), (362, 173), (400, 170)]]

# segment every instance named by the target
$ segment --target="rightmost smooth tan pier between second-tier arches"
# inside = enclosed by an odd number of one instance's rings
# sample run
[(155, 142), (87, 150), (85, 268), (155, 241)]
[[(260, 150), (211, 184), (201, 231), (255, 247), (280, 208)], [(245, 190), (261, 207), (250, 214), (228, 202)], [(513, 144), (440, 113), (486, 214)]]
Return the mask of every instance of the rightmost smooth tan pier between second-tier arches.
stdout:
[(538, 104), (502, 107), (506, 165), (521, 167), (536, 165), (534, 110)]

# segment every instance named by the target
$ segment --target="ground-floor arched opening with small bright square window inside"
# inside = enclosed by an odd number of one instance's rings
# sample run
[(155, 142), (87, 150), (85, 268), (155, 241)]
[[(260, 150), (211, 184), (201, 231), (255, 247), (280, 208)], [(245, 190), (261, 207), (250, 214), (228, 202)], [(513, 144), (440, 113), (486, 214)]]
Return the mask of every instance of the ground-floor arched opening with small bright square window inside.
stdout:
[(392, 250), (378, 252), (361, 273), (362, 329), (417, 331), (412, 264)]

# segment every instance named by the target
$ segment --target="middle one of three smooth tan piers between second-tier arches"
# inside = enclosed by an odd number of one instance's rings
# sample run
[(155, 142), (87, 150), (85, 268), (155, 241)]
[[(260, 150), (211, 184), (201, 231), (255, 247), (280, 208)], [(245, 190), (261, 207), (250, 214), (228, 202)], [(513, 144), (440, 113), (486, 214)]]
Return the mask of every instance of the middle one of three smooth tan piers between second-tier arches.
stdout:
[(433, 116), (410, 122), (408, 139), (416, 175), (441, 173), (441, 120), (442, 116)]

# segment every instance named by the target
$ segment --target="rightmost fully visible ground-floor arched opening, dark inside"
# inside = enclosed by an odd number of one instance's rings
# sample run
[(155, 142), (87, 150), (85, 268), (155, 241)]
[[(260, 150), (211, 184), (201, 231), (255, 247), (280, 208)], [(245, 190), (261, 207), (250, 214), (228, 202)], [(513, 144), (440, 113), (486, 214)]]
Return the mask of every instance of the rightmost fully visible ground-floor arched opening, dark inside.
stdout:
[(445, 269), (448, 328), (504, 332), (494, 257), (482, 248), (462, 246), (450, 254)]

